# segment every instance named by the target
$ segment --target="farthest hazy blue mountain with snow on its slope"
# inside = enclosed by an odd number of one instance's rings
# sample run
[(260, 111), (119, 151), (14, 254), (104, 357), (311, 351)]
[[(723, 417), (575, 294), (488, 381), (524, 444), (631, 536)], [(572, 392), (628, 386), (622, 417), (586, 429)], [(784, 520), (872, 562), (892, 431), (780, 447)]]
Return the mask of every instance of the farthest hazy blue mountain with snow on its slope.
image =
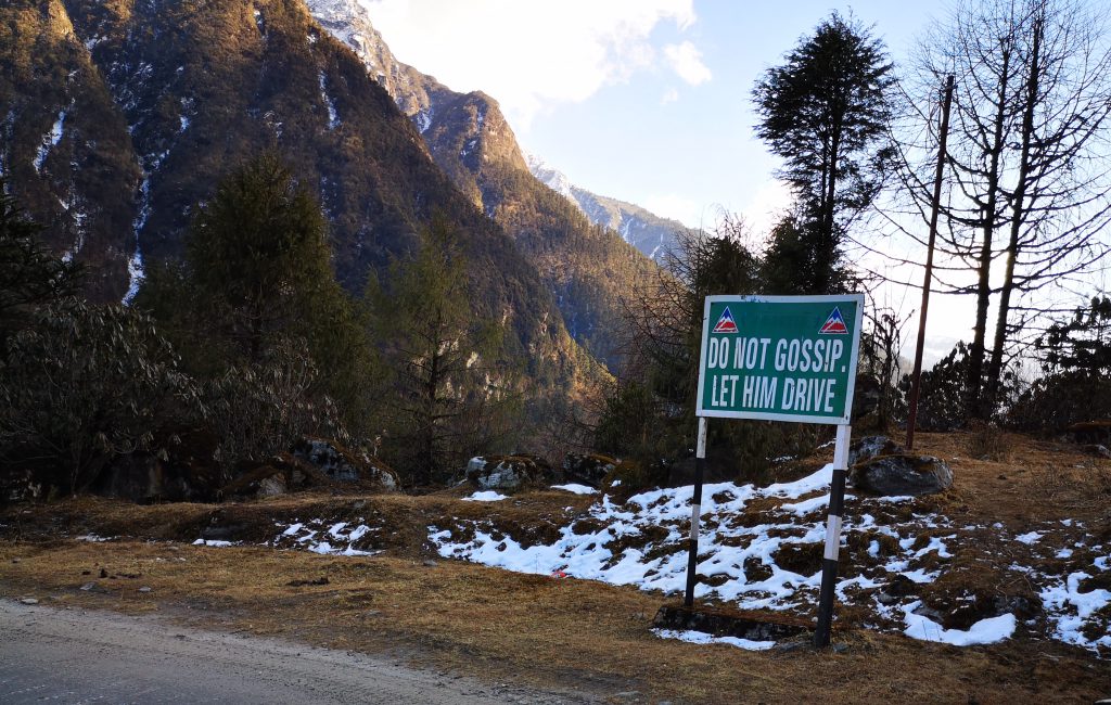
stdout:
[(678, 233), (690, 230), (677, 220), (660, 218), (633, 203), (581, 189), (539, 157), (528, 154), (526, 159), (533, 177), (577, 205), (590, 222), (617, 232), (655, 262), (674, 250)]

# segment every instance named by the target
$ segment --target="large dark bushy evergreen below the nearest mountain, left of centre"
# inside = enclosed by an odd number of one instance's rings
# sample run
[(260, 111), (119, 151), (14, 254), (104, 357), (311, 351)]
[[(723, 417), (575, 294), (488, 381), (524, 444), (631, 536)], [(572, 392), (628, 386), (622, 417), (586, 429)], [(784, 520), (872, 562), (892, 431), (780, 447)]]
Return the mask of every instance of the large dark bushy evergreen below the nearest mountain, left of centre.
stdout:
[(353, 433), (367, 431), (366, 322), (336, 280), (320, 205), (281, 158), (263, 153), (226, 177), (186, 248), (182, 264), (151, 268), (136, 300), (186, 366), (210, 380), (233, 367), (299, 367), (303, 361), (286, 353), (306, 346), (318, 372), (313, 391), (338, 403)]

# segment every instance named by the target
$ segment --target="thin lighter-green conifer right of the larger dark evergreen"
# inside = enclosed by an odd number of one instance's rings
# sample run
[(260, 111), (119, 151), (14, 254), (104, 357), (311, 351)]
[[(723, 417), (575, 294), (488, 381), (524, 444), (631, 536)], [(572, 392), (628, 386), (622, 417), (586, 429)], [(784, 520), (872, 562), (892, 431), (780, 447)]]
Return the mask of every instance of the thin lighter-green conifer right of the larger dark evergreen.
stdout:
[(383, 453), (413, 485), (443, 482), (486, 452), (508, 431), (516, 402), (501, 326), (472, 313), (469, 275), (458, 233), (433, 218), (414, 255), (369, 286), (390, 377), (380, 397), (391, 436)]

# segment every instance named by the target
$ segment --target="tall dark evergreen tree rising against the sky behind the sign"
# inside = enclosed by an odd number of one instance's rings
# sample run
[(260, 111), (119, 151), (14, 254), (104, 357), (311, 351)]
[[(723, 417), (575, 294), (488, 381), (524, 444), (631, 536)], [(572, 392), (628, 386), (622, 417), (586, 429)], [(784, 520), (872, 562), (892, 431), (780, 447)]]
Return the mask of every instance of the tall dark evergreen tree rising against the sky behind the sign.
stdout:
[(801, 273), (805, 293), (839, 289), (842, 241), (881, 185), (890, 155), (881, 138), (890, 117), (891, 69), (883, 42), (834, 12), (752, 91), (757, 134), (784, 160), (779, 177), (801, 214), (773, 233), (779, 248), (771, 254), (798, 254), (799, 248), (812, 253), (815, 266)]

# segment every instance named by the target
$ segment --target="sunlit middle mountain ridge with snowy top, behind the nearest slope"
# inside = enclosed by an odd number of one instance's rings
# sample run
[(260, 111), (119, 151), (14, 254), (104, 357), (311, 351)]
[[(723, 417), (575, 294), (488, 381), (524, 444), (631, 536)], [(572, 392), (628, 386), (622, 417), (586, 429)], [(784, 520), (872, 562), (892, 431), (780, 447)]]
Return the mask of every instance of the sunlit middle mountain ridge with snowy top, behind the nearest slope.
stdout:
[(514, 239), (575, 340), (615, 364), (621, 298), (655, 273), (654, 263), (532, 175), (496, 100), (454, 92), (398, 61), (358, 0), (308, 4), (409, 115), (456, 187)]

